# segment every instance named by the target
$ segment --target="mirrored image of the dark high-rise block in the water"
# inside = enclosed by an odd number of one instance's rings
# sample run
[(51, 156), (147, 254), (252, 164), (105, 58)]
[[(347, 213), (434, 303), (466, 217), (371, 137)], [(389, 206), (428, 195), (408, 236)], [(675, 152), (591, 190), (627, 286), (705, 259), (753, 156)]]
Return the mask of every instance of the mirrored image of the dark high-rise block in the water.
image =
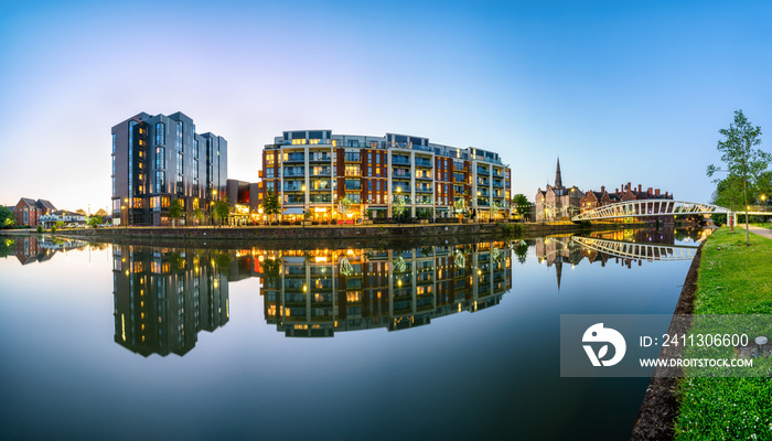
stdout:
[(115, 342), (149, 356), (185, 355), (229, 318), (228, 251), (112, 246)]

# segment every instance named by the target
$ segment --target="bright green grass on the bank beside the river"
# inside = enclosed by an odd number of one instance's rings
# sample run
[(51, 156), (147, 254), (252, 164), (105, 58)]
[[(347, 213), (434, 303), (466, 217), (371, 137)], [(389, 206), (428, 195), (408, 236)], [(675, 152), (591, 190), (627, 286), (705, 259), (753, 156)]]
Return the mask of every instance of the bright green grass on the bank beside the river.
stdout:
[[(772, 240), (723, 227), (707, 240), (695, 314), (772, 314)], [(764, 361), (766, 363), (766, 361)], [(679, 383), (676, 440), (772, 440), (772, 378), (698, 377)]]

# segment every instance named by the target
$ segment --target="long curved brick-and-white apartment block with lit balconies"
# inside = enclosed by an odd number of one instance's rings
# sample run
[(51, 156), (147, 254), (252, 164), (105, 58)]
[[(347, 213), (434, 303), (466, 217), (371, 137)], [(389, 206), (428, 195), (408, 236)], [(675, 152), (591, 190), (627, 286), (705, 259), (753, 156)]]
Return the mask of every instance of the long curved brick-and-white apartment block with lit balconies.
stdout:
[(511, 198), (511, 170), (498, 153), (429, 142), (427, 138), (285, 131), (262, 152), (260, 198), (279, 195), (282, 213), (311, 211), (340, 218), (339, 201), (353, 203), (349, 217), (372, 211), (392, 217), (401, 200), (410, 217), (451, 217), (463, 209), (479, 219), (502, 217)]

